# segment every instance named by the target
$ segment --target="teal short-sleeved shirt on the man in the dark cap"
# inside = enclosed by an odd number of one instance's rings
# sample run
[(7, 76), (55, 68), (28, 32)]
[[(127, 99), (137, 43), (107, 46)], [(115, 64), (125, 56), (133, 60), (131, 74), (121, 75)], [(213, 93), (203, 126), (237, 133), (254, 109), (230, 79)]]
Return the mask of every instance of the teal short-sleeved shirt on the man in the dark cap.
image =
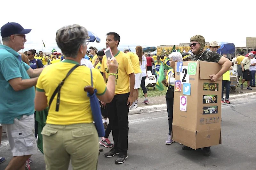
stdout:
[(8, 83), (13, 78), (30, 79), (29, 65), (12, 48), (0, 45), (0, 123), (12, 124), (14, 118), (32, 115), (35, 111), (35, 87), (14, 91)]

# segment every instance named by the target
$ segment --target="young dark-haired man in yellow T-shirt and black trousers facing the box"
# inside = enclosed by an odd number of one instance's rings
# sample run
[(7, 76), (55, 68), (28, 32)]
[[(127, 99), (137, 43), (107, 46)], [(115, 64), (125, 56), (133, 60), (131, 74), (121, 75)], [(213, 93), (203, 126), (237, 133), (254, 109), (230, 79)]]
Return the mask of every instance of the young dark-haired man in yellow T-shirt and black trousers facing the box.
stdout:
[[(128, 158), (128, 113), (129, 107), (132, 105), (135, 76), (130, 57), (117, 49), (120, 36), (114, 32), (109, 32), (106, 35), (106, 47), (111, 48), (118, 63), (118, 70), (116, 72), (115, 97), (107, 104), (109, 123), (112, 124), (114, 147), (105, 153), (105, 156), (113, 157), (118, 154), (115, 163), (121, 164)], [(109, 70), (106, 61), (107, 57), (104, 55), (100, 71), (103, 72), (103, 78), (108, 82)]]

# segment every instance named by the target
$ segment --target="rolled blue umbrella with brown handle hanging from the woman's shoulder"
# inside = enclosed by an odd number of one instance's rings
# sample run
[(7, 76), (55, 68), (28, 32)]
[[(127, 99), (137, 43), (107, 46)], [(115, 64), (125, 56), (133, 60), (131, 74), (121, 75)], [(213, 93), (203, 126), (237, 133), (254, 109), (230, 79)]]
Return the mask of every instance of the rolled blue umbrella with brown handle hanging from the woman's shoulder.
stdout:
[[(92, 69), (91, 69), (91, 82), (92, 82)], [(96, 96), (97, 90), (93, 89), (93, 83), (92, 83), (92, 86), (84, 87), (84, 91), (87, 92), (87, 96), (90, 98), (92, 116), (93, 116), (95, 127), (96, 127), (97, 132), (98, 132), (98, 136), (99, 137), (104, 137), (105, 136), (105, 129), (104, 129), (104, 126), (103, 126), (103, 123), (102, 123), (99, 100)]]

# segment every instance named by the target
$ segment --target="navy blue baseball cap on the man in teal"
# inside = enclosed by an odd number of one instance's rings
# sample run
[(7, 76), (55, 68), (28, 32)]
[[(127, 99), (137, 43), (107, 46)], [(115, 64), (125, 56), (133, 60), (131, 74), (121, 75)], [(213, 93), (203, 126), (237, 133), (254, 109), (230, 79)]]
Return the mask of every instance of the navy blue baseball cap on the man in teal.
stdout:
[(24, 29), (20, 24), (16, 22), (8, 22), (1, 27), (1, 36), (9, 37), (13, 34), (27, 34), (30, 33), (31, 29)]

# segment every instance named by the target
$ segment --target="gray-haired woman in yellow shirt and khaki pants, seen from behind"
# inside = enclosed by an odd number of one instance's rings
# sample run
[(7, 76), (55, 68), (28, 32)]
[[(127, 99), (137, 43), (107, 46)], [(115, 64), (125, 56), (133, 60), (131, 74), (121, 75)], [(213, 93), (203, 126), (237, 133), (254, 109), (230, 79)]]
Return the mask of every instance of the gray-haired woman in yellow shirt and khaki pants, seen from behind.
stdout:
[[(43, 110), (49, 105), (46, 125), (41, 133), (46, 170), (68, 169), (70, 159), (74, 170), (97, 169), (98, 133), (84, 87), (93, 86), (101, 101), (111, 102), (118, 63), (115, 58), (112, 61), (108, 59), (107, 85), (98, 70), (81, 66), (80, 61), (89, 42), (87, 37), (83, 26), (60, 28), (56, 42), (65, 60), (45, 67), (36, 84), (36, 110)], [(55, 76), (48, 76), (52, 72), (56, 73)], [(57, 95), (53, 95), (55, 91), (58, 91)]]

